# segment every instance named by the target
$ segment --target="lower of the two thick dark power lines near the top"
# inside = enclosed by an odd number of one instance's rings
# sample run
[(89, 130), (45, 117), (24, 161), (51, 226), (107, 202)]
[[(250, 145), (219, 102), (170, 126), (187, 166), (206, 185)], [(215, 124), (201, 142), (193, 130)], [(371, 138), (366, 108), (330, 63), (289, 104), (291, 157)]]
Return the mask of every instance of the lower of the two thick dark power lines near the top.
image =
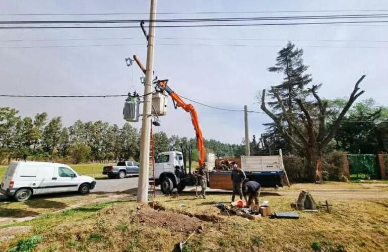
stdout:
[[(193, 28), (193, 27), (249, 27), (249, 26), (283, 26), (283, 25), (327, 25), (327, 24), (367, 24), (388, 23), (384, 20), (376, 21), (335, 21), (335, 22), (297, 22), (297, 23), (261, 23), (261, 24), (203, 24), (203, 25), (159, 25), (156, 28)], [(145, 26), (149, 28), (150, 26)], [(138, 26), (1, 26), (0, 29), (126, 29)]]

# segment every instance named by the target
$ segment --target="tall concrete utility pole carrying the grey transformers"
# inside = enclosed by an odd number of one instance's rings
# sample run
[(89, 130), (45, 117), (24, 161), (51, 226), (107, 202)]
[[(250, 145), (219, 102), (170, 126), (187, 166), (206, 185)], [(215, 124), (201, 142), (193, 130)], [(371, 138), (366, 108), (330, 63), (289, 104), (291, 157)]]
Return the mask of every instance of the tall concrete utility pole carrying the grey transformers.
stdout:
[[(144, 82), (144, 94), (152, 92), (152, 82), (154, 79), (154, 42), (155, 42), (155, 20), (156, 20), (156, 0), (151, 0), (150, 28), (147, 37), (147, 63), (146, 79)], [(144, 96), (142, 136), (140, 142), (140, 170), (138, 182), (138, 202), (148, 201), (148, 169), (150, 165), (150, 133), (151, 133), (151, 108), (152, 94)]]

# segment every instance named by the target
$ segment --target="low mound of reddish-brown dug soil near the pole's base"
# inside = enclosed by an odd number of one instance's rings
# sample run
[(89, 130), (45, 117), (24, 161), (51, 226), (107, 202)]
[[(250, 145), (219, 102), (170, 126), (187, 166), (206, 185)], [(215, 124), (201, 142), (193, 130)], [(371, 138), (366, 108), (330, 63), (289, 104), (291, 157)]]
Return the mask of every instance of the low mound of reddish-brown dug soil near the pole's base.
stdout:
[(159, 212), (154, 209), (142, 209), (136, 213), (136, 222), (149, 226), (165, 227), (172, 232), (192, 232), (201, 226), (201, 220), (183, 214)]

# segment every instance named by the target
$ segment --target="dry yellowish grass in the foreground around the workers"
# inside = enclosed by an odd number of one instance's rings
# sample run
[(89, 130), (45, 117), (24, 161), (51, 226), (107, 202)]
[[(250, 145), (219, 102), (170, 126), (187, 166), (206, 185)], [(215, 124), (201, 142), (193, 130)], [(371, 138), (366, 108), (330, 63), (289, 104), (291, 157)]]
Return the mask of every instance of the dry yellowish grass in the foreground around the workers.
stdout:
[(198, 226), (200, 231), (188, 240), (184, 251), (388, 250), (387, 185), (295, 184), (276, 192), (266, 189), (261, 200), (268, 200), (273, 211), (294, 211), (290, 204), (302, 189), (309, 190), (318, 205), (328, 200), (331, 212), (297, 211), (298, 220), (261, 217), (253, 221), (219, 214), (215, 204), (227, 205), (229, 192), (208, 192), (206, 200), (184, 192), (178, 198), (157, 196), (163, 207), (160, 211), (134, 200), (115, 201), (12, 223), (0, 227), (0, 233), (11, 226), (31, 229), (0, 242), (0, 251), (24, 239), (36, 240), (35, 236), (41, 241), (34, 251), (171, 251)]

